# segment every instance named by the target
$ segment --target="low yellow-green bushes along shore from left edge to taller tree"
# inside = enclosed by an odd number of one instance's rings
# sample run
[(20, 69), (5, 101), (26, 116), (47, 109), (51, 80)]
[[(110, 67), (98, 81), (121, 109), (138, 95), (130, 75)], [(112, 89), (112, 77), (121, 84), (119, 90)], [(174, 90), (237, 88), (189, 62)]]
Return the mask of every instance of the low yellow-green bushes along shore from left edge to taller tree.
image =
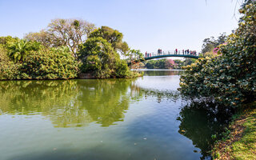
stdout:
[(76, 78), (78, 62), (62, 48), (31, 51), (22, 62), (5, 57), (0, 61), (0, 79), (67, 79)]

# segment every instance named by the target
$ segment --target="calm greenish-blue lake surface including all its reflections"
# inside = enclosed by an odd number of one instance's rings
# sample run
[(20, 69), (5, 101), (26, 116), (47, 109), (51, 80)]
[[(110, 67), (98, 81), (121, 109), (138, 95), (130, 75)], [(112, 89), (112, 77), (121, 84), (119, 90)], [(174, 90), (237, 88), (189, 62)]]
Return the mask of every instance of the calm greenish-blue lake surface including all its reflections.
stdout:
[(229, 117), (182, 98), (181, 73), (0, 82), (0, 159), (210, 158), (211, 134)]

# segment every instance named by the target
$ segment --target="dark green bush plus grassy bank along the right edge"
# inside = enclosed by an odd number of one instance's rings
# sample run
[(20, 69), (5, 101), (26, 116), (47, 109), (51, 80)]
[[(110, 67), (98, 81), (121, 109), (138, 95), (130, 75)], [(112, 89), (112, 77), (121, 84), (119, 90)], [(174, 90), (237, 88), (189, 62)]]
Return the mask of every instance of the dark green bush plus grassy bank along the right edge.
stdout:
[(212, 135), (214, 159), (256, 158), (256, 2), (247, 0), (239, 12), (238, 29), (212, 46), (217, 56), (199, 58), (183, 67), (181, 76), (182, 94), (215, 102), (218, 110), (235, 110), (226, 132)]

